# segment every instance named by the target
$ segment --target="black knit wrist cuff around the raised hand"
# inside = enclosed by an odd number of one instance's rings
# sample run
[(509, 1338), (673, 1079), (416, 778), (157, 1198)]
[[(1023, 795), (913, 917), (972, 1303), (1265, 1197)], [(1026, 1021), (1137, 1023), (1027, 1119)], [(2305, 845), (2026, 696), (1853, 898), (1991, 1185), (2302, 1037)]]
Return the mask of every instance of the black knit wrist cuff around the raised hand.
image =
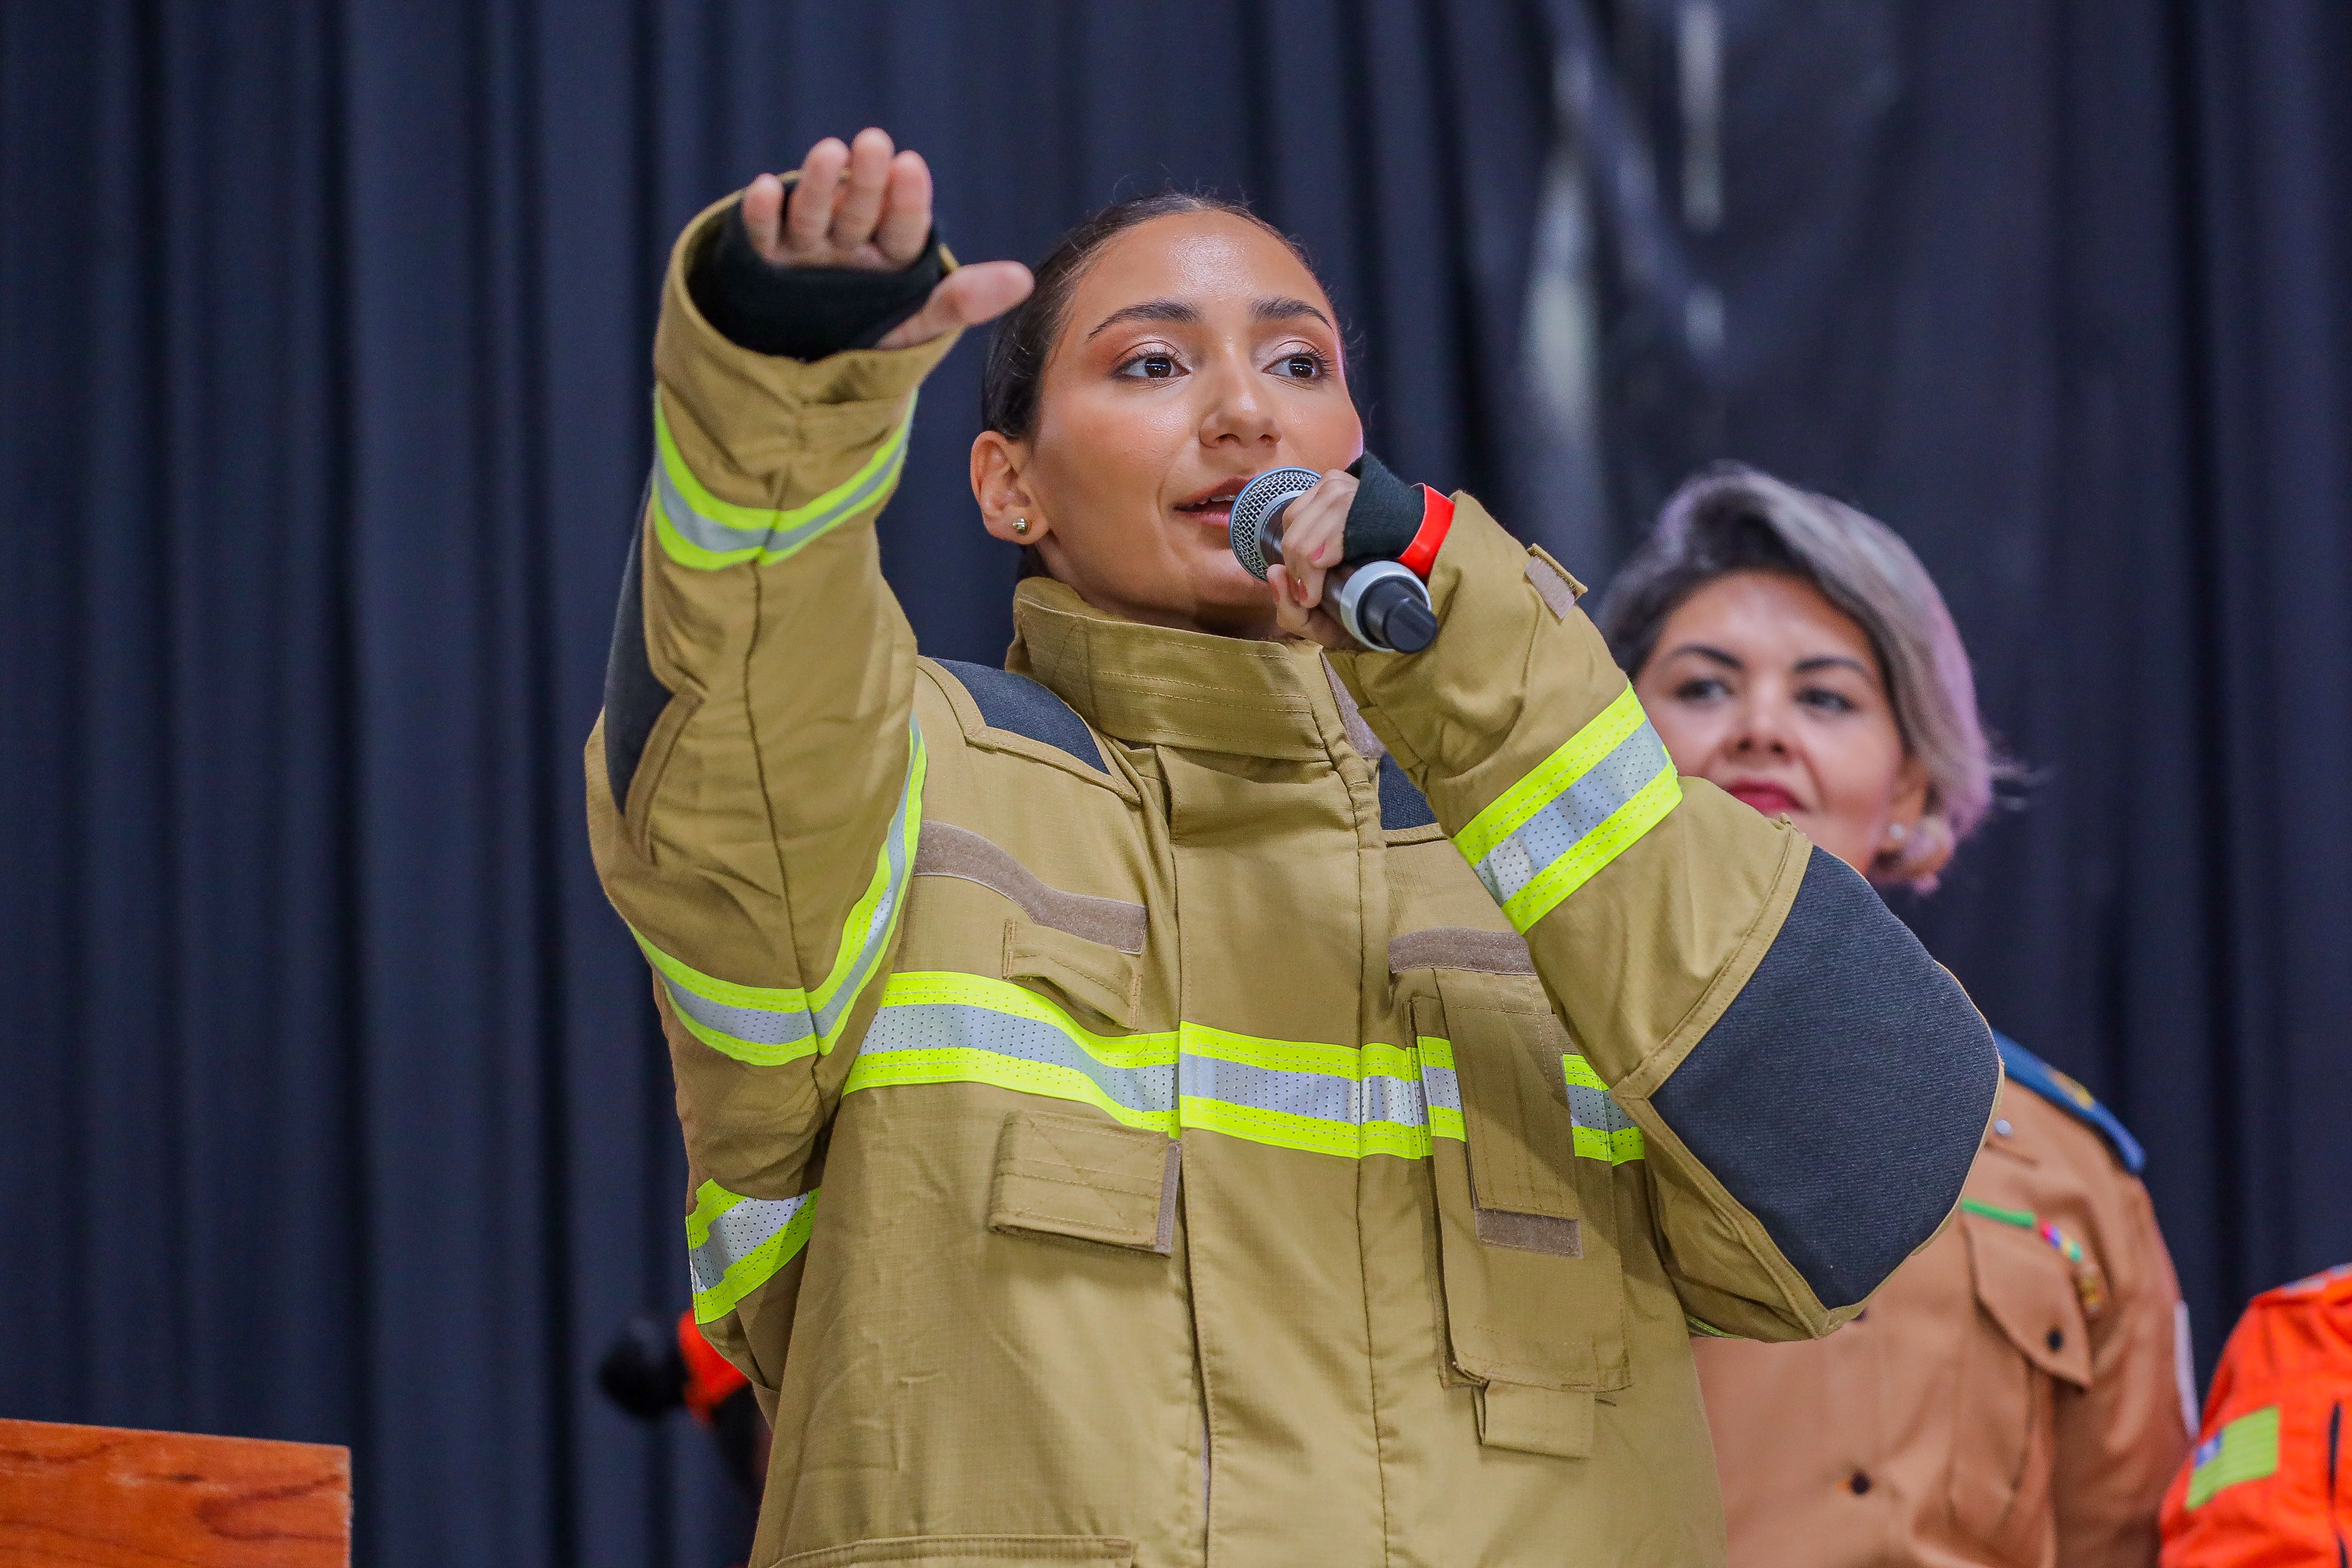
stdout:
[[(786, 188), (790, 200), (790, 188)], [(938, 230), (896, 273), (849, 266), (776, 266), (750, 242), (743, 202), (727, 212), (717, 240), (687, 273), (694, 306), (736, 348), (757, 355), (823, 360), (844, 348), (873, 348), (891, 327), (922, 310), (948, 275)]]

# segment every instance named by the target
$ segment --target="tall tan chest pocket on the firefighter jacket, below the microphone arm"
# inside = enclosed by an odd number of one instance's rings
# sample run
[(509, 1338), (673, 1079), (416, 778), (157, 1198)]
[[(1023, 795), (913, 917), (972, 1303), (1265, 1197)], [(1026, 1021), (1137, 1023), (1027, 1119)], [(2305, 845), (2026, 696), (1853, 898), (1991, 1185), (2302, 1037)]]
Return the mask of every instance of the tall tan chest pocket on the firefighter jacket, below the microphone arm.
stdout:
[[(1449, 1363), (1477, 1385), (1479, 1441), (1583, 1458), (1595, 1394), (1630, 1382), (1616, 1154), (1639, 1133), (1534, 980), (1439, 973), (1437, 990), (1414, 1016)], [(1449, 1088), (1458, 1126), (1437, 1110)]]

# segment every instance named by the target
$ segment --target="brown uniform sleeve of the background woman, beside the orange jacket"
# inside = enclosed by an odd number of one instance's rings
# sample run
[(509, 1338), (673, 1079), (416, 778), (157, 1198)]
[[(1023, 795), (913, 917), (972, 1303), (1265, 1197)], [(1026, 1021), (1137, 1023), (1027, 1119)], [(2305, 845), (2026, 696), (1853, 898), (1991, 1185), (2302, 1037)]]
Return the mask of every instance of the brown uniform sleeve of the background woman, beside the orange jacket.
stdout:
[(2091, 1387), (2058, 1392), (2051, 1502), (2067, 1568), (2152, 1568), (2164, 1488), (2197, 1436), (2180, 1281), (2147, 1190), (2126, 1185), (2126, 1234), (2100, 1248), (2110, 1300), (2091, 1324)]

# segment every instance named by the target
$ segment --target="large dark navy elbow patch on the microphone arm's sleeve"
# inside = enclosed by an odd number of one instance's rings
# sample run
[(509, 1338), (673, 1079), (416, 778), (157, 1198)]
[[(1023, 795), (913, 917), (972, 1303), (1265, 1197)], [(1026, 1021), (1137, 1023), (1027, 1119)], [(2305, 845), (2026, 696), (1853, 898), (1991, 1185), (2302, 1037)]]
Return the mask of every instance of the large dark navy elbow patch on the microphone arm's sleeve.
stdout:
[(1825, 1307), (1851, 1307), (1959, 1199), (1999, 1086), (1992, 1030), (1842, 860), (1651, 1105)]

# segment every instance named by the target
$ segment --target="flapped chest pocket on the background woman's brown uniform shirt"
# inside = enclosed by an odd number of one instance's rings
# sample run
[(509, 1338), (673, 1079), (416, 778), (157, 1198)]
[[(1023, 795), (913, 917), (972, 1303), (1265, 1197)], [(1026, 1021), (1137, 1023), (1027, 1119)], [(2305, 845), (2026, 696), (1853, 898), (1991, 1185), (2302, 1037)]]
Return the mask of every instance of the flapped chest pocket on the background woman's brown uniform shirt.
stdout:
[(1964, 1211), (1976, 1321), (1962, 1349), (1952, 1516), (2037, 1559), (2049, 1530), (2056, 1401), (2091, 1382), (2091, 1335), (2067, 1260), (2023, 1215)]

